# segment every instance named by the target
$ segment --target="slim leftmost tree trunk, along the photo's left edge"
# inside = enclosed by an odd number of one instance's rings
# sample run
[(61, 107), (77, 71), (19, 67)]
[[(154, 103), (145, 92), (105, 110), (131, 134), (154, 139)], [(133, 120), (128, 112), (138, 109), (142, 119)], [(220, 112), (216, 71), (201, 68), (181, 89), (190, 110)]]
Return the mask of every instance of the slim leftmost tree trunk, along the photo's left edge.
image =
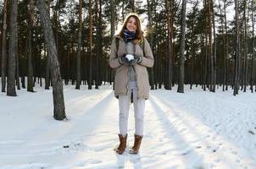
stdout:
[(6, 87), (6, 19), (7, 19), (7, 3), (8, 0), (3, 2), (3, 31), (2, 31), (2, 67), (1, 67), (1, 76), (2, 76), (2, 92), (5, 92)]

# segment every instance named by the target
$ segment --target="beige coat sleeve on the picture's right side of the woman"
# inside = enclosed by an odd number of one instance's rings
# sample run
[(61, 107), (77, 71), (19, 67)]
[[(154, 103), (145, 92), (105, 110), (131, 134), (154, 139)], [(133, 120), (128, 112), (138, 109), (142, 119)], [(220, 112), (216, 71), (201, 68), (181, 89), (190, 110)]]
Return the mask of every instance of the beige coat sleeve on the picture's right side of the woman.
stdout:
[(140, 63), (140, 65), (148, 68), (152, 68), (154, 63), (153, 53), (146, 38), (144, 38), (144, 41), (145, 41), (144, 43), (145, 56), (142, 57), (142, 63)]

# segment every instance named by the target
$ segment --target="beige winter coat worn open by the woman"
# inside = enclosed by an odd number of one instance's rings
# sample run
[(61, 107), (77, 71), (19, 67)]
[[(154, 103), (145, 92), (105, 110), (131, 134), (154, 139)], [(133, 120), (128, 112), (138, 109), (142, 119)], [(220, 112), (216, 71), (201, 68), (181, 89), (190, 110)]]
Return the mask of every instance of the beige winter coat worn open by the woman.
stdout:
[[(116, 45), (115, 39), (119, 38), (119, 49), (116, 55)], [(139, 99), (148, 99), (149, 97), (149, 82), (148, 82), (148, 74), (147, 68), (153, 67), (153, 54), (151, 48), (144, 38), (144, 52), (145, 56), (143, 56), (143, 49), (139, 44), (135, 46), (135, 55), (142, 56), (142, 63), (136, 63), (134, 65), (136, 72), (136, 82), (138, 86), (138, 98)], [(118, 95), (127, 95), (128, 92), (128, 82), (129, 82), (129, 66), (125, 64), (120, 64), (119, 58), (123, 56), (126, 51), (125, 41), (120, 38), (120, 36), (115, 35), (111, 44), (111, 52), (109, 56), (109, 66), (111, 68), (116, 68), (115, 78), (114, 78), (114, 95), (118, 98)], [(118, 56), (118, 57), (116, 57)]]

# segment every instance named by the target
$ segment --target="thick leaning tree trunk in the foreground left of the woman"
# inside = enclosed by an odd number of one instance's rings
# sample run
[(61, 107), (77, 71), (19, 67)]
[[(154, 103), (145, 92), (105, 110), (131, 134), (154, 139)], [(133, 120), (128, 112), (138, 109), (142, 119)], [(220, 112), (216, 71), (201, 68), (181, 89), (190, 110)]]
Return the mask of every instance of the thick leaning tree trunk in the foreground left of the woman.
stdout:
[(49, 53), (50, 58), (51, 75), (53, 77), (53, 117), (56, 120), (64, 120), (66, 118), (66, 115), (64, 106), (63, 85), (60, 76), (57, 49), (53, 37), (53, 29), (44, 0), (36, 0), (36, 3), (38, 5), (41, 17), (45, 42), (47, 45), (47, 52)]

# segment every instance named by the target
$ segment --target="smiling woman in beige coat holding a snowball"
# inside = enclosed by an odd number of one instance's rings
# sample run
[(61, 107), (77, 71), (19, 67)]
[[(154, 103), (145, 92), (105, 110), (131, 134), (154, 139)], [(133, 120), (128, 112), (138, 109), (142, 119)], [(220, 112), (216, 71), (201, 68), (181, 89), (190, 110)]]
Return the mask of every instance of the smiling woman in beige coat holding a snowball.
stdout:
[(119, 99), (120, 108), (120, 145), (115, 151), (120, 155), (125, 151), (129, 107), (133, 102), (135, 140), (129, 153), (137, 154), (143, 136), (145, 100), (149, 96), (147, 68), (153, 67), (153, 54), (136, 14), (129, 14), (120, 33), (114, 35), (109, 66), (116, 68), (114, 95)]

